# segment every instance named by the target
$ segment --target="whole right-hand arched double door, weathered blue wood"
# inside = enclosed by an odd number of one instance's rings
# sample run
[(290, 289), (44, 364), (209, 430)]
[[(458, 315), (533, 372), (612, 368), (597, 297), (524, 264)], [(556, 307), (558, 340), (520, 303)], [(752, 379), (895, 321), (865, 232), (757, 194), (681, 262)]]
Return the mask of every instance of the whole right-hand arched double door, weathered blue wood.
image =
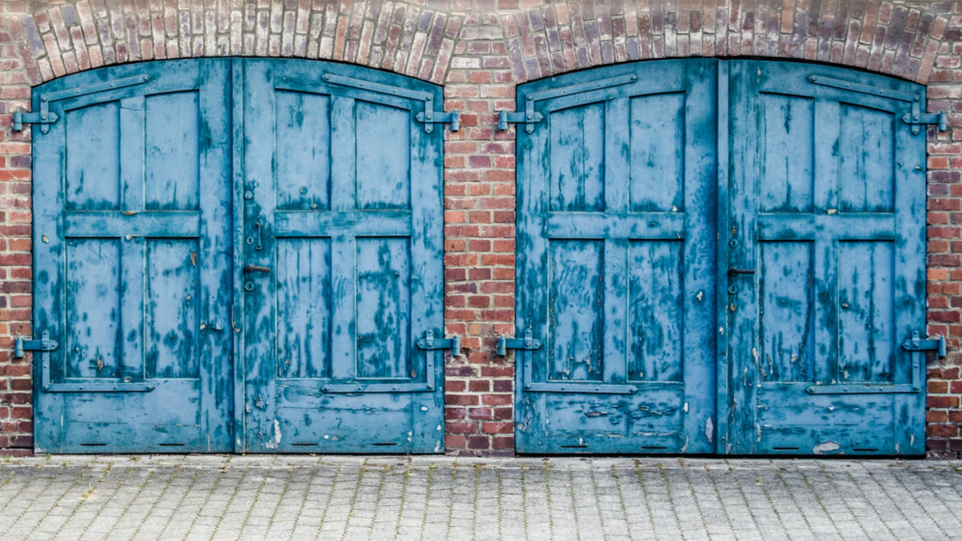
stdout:
[(519, 104), (518, 451), (924, 451), (921, 87), (699, 59)]

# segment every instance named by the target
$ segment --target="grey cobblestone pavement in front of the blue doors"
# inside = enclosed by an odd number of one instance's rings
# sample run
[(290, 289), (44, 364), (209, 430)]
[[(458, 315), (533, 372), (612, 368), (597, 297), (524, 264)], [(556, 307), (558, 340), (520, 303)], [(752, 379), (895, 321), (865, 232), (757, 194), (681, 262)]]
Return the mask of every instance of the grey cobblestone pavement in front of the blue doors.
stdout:
[(21, 539), (962, 539), (962, 462), (74, 456), (0, 462)]

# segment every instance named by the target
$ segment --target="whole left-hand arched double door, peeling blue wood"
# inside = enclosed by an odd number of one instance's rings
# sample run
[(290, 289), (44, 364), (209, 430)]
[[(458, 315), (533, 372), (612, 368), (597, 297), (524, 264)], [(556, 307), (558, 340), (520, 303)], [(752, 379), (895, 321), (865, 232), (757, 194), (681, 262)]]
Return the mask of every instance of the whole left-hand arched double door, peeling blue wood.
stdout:
[(207, 59), (37, 95), (37, 451), (443, 451), (440, 89)]

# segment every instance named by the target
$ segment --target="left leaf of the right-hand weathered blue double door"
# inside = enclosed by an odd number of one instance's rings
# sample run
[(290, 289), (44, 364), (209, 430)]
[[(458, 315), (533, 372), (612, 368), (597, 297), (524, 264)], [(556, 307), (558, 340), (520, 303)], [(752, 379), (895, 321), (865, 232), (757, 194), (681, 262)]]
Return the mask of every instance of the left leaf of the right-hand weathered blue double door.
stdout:
[(715, 451), (716, 67), (518, 88), (517, 451)]

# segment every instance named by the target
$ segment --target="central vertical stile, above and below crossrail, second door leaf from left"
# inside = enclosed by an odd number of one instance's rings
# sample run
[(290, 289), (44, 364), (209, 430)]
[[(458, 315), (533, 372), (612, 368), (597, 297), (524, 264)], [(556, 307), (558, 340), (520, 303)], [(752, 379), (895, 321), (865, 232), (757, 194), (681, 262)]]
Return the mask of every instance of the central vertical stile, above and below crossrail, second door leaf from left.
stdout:
[[(351, 212), (356, 205), (357, 133), (355, 100), (332, 96), (331, 104), (331, 210)], [(331, 284), (334, 296), (334, 339), (331, 377), (353, 379), (357, 374), (357, 245), (353, 232), (339, 231), (331, 239)]]

